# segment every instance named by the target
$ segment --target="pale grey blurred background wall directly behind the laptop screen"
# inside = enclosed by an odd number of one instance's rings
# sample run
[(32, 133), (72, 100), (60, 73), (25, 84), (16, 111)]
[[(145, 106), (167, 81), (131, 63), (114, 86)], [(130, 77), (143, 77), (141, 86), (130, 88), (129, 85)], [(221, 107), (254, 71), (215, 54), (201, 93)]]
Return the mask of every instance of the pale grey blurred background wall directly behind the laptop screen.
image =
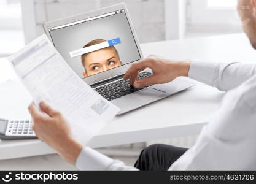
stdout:
[(126, 3), (140, 42), (165, 40), (164, 0), (21, 0), (21, 2), (26, 42), (43, 33), (42, 25), (45, 21), (119, 2)]

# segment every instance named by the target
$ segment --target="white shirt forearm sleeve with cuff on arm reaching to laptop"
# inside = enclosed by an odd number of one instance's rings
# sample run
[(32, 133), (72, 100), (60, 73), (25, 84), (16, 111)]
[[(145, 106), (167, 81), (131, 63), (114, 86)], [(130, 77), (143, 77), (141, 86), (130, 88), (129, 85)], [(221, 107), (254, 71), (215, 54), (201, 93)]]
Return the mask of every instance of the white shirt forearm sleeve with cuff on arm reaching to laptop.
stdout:
[(220, 91), (228, 91), (256, 74), (253, 63), (206, 63), (192, 61), (188, 77), (214, 86)]

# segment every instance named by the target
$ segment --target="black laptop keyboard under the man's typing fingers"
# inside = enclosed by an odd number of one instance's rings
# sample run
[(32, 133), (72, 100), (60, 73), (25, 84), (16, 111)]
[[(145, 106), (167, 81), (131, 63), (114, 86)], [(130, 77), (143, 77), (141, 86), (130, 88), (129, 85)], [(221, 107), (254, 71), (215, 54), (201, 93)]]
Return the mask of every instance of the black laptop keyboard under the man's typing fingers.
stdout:
[[(152, 76), (152, 74), (149, 72), (141, 72), (138, 79), (150, 76)], [(126, 94), (130, 94), (141, 89), (143, 88), (134, 88), (130, 85), (129, 80), (123, 79), (95, 88), (95, 90), (108, 101), (112, 101), (114, 99), (125, 96)]]

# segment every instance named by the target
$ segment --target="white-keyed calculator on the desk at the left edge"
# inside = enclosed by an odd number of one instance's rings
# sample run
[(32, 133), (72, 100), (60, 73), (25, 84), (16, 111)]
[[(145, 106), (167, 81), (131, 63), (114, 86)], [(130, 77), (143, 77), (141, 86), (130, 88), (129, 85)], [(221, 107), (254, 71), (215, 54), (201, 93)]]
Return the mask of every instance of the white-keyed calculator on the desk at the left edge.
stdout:
[(0, 119), (0, 139), (34, 139), (31, 120)]

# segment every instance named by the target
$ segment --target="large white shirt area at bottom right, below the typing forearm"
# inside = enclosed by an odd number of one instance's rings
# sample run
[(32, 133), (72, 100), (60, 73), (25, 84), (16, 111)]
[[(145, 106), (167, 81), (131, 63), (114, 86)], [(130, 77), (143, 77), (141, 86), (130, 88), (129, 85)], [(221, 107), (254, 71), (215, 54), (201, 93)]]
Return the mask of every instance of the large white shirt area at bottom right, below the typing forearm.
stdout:
[(256, 169), (256, 76), (227, 92), (196, 144), (170, 170)]

